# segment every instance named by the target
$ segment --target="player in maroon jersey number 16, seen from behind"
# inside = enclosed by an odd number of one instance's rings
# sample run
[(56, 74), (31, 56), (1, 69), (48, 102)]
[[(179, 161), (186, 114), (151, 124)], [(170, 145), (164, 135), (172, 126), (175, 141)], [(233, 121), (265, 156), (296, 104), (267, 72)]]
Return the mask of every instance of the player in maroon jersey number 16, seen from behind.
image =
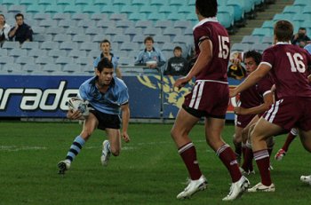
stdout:
[(266, 139), (293, 127), (299, 129), (303, 146), (311, 152), (311, 87), (307, 66), (311, 57), (306, 50), (291, 45), (293, 27), (287, 20), (275, 23), (275, 45), (264, 51), (259, 67), (243, 83), (230, 91), (230, 96), (246, 90), (270, 72), (275, 82), (277, 101), (263, 114), (251, 132), (254, 159), (261, 182), (249, 192), (275, 192), (269, 170)]

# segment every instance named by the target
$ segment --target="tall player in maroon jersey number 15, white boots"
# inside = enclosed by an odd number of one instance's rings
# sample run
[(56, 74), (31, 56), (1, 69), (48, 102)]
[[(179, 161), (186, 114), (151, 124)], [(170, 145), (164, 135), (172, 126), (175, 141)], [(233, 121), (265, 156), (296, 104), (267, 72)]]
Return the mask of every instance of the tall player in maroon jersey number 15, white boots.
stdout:
[(216, 0), (196, 0), (195, 13), (199, 23), (194, 28), (196, 61), (189, 73), (179, 78), (175, 87), (182, 87), (193, 77), (195, 86), (185, 97), (179, 109), (171, 137), (176, 143), (191, 178), (178, 199), (188, 198), (205, 189), (207, 180), (196, 159), (195, 146), (188, 133), (200, 118), (205, 117), (205, 138), (209, 146), (227, 167), (232, 178), (231, 191), (223, 201), (235, 200), (249, 186), (236, 162), (235, 153), (221, 138), (229, 101), (227, 64), (229, 59), (229, 37), (226, 28), (216, 19)]

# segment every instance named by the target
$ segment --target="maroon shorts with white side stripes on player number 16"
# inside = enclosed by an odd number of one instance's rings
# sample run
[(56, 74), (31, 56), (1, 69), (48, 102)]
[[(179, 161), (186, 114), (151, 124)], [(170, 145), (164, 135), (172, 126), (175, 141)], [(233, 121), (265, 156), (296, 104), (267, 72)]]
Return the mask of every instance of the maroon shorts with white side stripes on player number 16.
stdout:
[(297, 127), (307, 131), (311, 130), (310, 106), (311, 98), (283, 98), (277, 100), (263, 117), (285, 130)]

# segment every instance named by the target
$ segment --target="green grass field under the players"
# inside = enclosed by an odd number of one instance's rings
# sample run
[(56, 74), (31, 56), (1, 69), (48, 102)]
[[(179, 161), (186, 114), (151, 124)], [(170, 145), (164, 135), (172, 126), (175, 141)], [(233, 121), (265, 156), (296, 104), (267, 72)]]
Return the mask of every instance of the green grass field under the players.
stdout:
[[(57, 163), (67, 154), (81, 125), (70, 122), (0, 122), (0, 204), (224, 204), (229, 176), (219, 158), (206, 146), (203, 125), (191, 137), (208, 189), (192, 199), (177, 201), (185, 188), (187, 171), (170, 138), (171, 124), (131, 124), (132, 142), (119, 157), (100, 165), (97, 130), (65, 176)], [(223, 133), (231, 145), (234, 127)], [(275, 152), (285, 136), (275, 138)], [(299, 181), (311, 173), (310, 156), (296, 139), (282, 162), (272, 161), (275, 193), (245, 193), (231, 204), (310, 204), (311, 186)], [(257, 168), (256, 168), (257, 171)], [(249, 177), (259, 182), (258, 171)]]

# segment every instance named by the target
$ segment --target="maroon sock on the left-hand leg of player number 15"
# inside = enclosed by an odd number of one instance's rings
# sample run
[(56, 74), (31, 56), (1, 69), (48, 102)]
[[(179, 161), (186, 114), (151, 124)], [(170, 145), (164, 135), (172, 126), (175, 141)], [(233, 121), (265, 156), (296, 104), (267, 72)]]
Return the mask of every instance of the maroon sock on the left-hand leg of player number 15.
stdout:
[(192, 180), (199, 179), (202, 176), (202, 172), (199, 163), (196, 161), (194, 144), (189, 142), (186, 145), (179, 147), (179, 154), (187, 167), (190, 178)]

